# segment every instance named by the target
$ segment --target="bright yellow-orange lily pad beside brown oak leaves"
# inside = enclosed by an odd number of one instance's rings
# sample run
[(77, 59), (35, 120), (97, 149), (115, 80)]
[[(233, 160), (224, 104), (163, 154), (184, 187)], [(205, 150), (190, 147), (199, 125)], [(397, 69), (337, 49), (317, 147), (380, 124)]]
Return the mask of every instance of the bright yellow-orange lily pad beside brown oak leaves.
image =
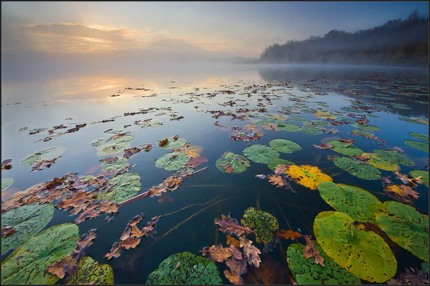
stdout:
[(321, 172), (318, 167), (311, 165), (287, 165), (285, 173), (290, 175), (288, 179), (310, 189), (316, 189), (320, 182), (333, 181), (329, 175)]

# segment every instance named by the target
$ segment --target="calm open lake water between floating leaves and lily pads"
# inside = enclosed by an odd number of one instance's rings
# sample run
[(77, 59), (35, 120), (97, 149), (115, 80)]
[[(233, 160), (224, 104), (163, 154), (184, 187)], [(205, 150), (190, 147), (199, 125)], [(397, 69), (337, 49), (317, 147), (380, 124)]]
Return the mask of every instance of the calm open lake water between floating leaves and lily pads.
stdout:
[[(371, 132), (383, 139), (386, 142), (385, 146), (381, 146), (380, 141), (374, 139), (348, 134), (352, 129), (357, 129), (350, 124), (329, 126), (326, 129), (332, 133), (317, 135), (308, 135), (300, 131), (276, 131), (256, 125), (259, 127), (258, 132), (265, 135), (258, 141), (249, 142), (230, 140), (230, 134), (236, 133), (235, 130), (214, 125), (214, 122), (219, 121), (219, 124), (225, 127), (245, 127), (253, 120), (267, 118), (267, 114), (282, 114), (278, 112), (283, 110), (281, 107), (292, 107), (296, 114), (289, 116), (302, 117), (306, 122), (321, 118), (315, 117), (312, 113), (305, 113), (303, 109), (336, 111), (342, 113), (341, 116), (337, 116), (338, 118), (352, 120), (356, 119), (348, 117), (347, 114), (369, 115), (342, 111), (341, 108), (357, 103), (351, 101), (359, 101), (367, 106), (379, 104), (385, 109), (371, 111), (370, 114), (378, 117), (366, 116), (369, 121), (367, 124), (380, 128), (379, 131)], [(140, 109), (149, 108), (157, 110), (147, 114), (125, 116), (125, 113), (135, 113)], [(250, 110), (265, 108), (267, 113), (252, 113), (253, 117), (232, 120), (231, 116), (214, 118), (209, 112), (230, 111), (240, 116), (242, 114), (237, 113), (240, 108)], [(170, 120), (179, 116), (183, 118)], [(401, 117), (420, 118), (427, 120), (427, 124), (412, 124), (399, 120)], [(115, 121), (100, 122), (111, 119)], [(135, 123), (136, 121), (142, 123), (148, 119), (152, 119), (152, 122), (162, 121), (165, 126), (148, 128)], [(77, 132), (43, 141), (49, 137), (48, 130), (54, 126), (63, 124), (74, 127), (83, 123), (87, 126)], [(285, 120), (284, 123), (303, 127), (302, 121)], [(27, 129), (18, 131), (24, 127)], [(36, 128), (46, 130), (29, 135), (29, 131)], [(101, 158), (122, 155), (120, 152), (115, 155), (97, 156), (96, 147), (91, 146), (91, 142), (97, 138), (107, 139), (114, 135), (104, 133), (109, 129), (131, 132), (129, 134), (135, 137), (135, 140), (130, 142), (131, 147), (140, 144), (152, 144), (154, 147), (149, 152), (139, 152), (128, 159), (128, 163), (136, 164), (128, 172), (140, 175), (141, 189), (136, 195), (147, 192), (175, 172), (154, 164), (158, 157), (171, 152), (157, 146), (157, 142), (163, 138), (179, 135), (186, 142), (191, 142), (191, 145), (202, 147), (200, 156), (208, 160), (194, 168), (194, 170), (207, 168), (204, 172), (186, 178), (174, 192), (163, 193), (161, 197), (145, 197), (125, 204), (119, 208), (118, 214), (110, 223), (104, 223), (107, 215), (102, 214), (93, 219), (86, 219), (78, 225), (80, 236), (91, 229), (96, 229), (96, 238), (94, 243), (85, 249), (86, 255), (100, 264), (110, 264), (114, 269), (116, 283), (145, 283), (148, 275), (158, 264), (172, 254), (189, 251), (201, 255), (199, 251), (204, 247), (219, 244), (227, 246), (226, 233), (221, 233), (213, 222), (214, 219), (221, 219), (221, 215), (230, 214), (232, 218), (240, 221), (247, 208), (259, 207), (277, 218), (280, 229), (288, 230), (290, 226), (292, 230), (299, 228), (303, 234), (313, 236), (315, 216), (323, 211), (333, 211), (333, 208), (320, 197), (318, 190), (291, 181), (291, 186), (297, 192), (294, 194), (288, 189), (275, 187), (267, 179), (256, 178), (256, 174), (273, 173), (267, 164), (250, 160), (250, 167), (243, 173), (221, 172), (215, 162), (226, 151), (243, 155), (243, 150), (250, 144), (269, 145), (273, 139), (288, 139), (298, 143), (301, 149), (292, 153), (280, 152), (279, 158), (297, 165), (317, 166), (332, 176), (334, 182), (368, 190), (381, 202), (393, 200), (383, 192), (380, 180), (358, 178), (338, 168), (328, 159), (328, 156), (345, 155), (331, 149), (318, 149), (312, 144), (330, 141), (327, 137), (340, 137), (356, 140), (354, 146), (368, 153), (372, 153), (374, 149), (400, 148), (415, 163), (415, 166), (400, 165), (401, 173), (409, 174), (415, 169), (428, 171), (428, 152), (409, 147), (403, 142), (419, 141), (409, 135), (411, 132), (428, 136), (428, 71), (357, 66), (220, 64), (163, 65), (130, 69), (93, 67), (81, 70), (57, 67), (48, 75), (39, 75), (37, 78), (4, 78), (2, 161), (12, 159), (13, 168), (2, 170), (2, 179), (13, 178), (14, 182), (3, 192), (2, 200), (6, 201), (16, 192), (70, 172), (96, 176), (101, 169), (94, 166), (100, 164)], [(57, 145), (64, 146), (66, 151), (50, 168), (30, 172), (30, 165), (19, 163), (21, 158), (33, 152)], [(94, 168), (91, 169), (92, 167)], [(381, 173), (382, 176), (391, 175), (393, 183), (401, 183), (393, 172), (381, 170)], [(420, 184), (414, 190), (419, 193), (419, 198), (413, 200), (413, 206), (428, 212), (428, 187)], [(167, 195), (171, 200), (158, 202)], [(60, 200), (54, 201), (54, 204)], [(184, 209), (185, 207), (188, 208)], [(104, 257), (112, 245), (119, 241), (127, 224), (135, 216), (144, 215), (138, 224), (142, 228), (152, 218), (173, 212), (176, 213), (158, 220), (154, 238), (142, 237), (141, 243), (136, 248), (123, 250), (118, 258), (107, 260)], [(195, 215), (196, 213), (198, 214)], [(52, 220), (45, 228), (73, 222), (76, 217), (77, 215), (69, 215), (69, 211), (56, 209)], [(157, 238), (160, 239), (156, 240)], [(284, 263), (282, 256), (285, 256), (285, 251), (291, 243), (282, 240), (282, 245), (274, 248), (274, 252), (270, 254)], [(263, 248), (262, 243), (254, 244), (260, 249)], [(12, 250), (3, 254), (2, 260), (11, 252)], [(404, 267), (413, 266), (421, 269), (420, 259), (406, 250), (401, 250), (400, 255), (395, 277), (404, 272)], [(217, 262), (217, 265), (223, 273), (225, 264)], [(223, 274), (222, 276), (224, 283), (230, 283)]]

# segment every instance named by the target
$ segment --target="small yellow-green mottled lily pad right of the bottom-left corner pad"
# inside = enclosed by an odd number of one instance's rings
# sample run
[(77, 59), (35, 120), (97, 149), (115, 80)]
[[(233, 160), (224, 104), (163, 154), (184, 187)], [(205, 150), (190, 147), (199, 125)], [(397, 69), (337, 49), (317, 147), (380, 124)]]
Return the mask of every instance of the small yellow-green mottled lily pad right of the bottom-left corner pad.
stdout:
[(79, 260), (77, 271), (67, 278), (66, 284), (114, 284), (114, 272), (110, 265), (98, 265), (91, 257), (84, 256)]

